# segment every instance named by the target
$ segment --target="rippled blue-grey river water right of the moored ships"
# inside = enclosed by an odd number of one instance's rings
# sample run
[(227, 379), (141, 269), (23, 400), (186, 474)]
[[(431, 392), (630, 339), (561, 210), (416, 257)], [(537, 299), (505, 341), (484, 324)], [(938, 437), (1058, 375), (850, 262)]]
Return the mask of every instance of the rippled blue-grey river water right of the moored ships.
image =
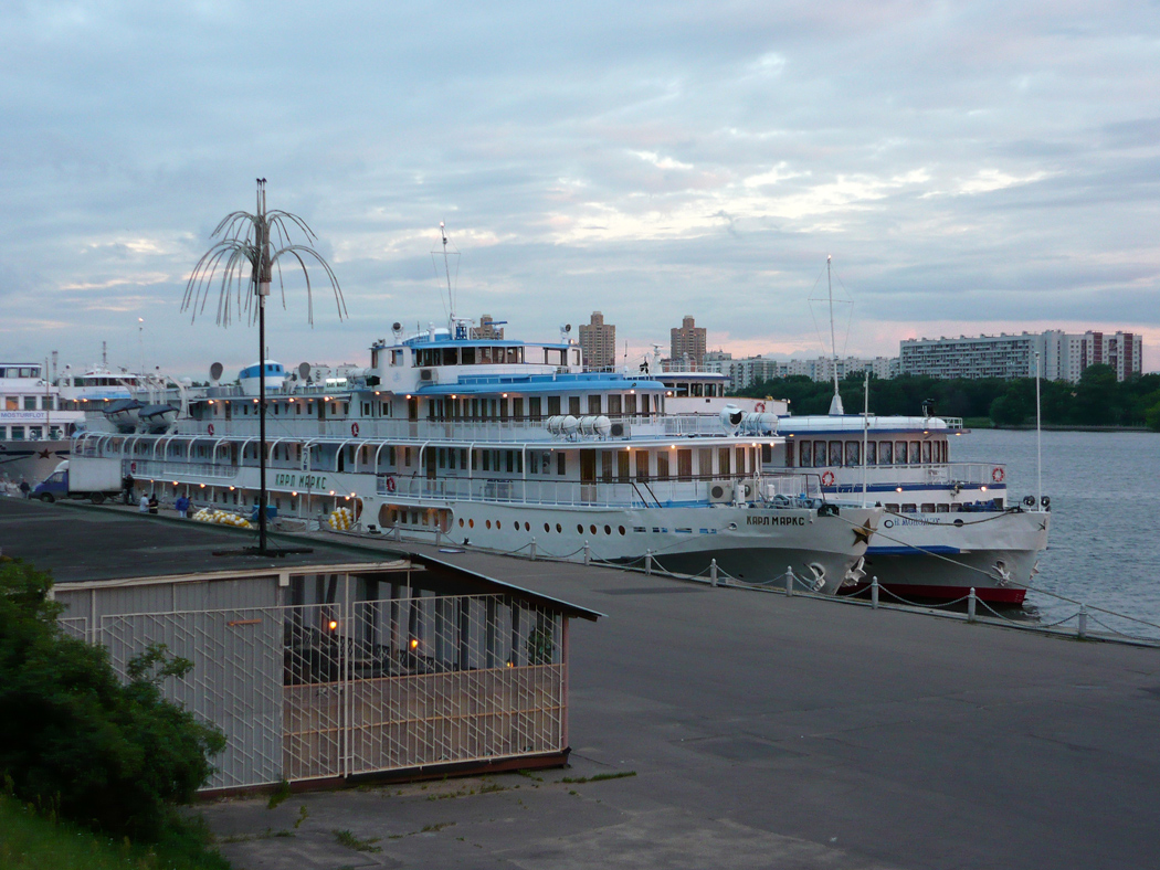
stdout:
[[(951, 449), (951, 461), (1006, 464), (1010, 503), (1035, 494), (1035, 432), (976, 429)], [(1032, 585), (1154, 624), (1090, 612), (1093, 632), (1104, 630), (1099, 619), (1160, 638), (1160, 435), (1044, 432), (1043, 492), (1051, 496), (1051, 529)], [(1078, 607), (1030, 592), (1024, 610), (1051, 623)]]

